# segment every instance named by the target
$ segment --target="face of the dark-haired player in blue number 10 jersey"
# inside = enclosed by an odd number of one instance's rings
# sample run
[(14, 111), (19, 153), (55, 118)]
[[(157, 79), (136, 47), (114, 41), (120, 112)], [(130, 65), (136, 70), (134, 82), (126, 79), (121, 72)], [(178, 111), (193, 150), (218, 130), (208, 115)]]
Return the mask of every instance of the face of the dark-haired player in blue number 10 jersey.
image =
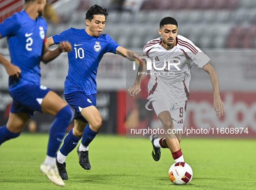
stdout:
[(104, 15), (94, 15), (94, 18), (91, 19), (91, 22), (87, 19), (86, 25), (90, 32), (89, 35), (99, 36), (105, 27), (105, 23), (106, 17)]

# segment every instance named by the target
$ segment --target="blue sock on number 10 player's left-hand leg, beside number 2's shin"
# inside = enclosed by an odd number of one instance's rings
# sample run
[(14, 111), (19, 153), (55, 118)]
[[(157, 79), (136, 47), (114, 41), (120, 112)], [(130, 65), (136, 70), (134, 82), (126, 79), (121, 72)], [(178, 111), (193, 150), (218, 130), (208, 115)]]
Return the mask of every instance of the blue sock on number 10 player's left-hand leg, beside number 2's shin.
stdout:
[(67, 156), (72, 150), (74, 150), (80, 139), (80, 137), (73, 134), (73, 129), (70, 129), (68, 135), (64, 139), (62, 148), (59, 151), (62, 155)]

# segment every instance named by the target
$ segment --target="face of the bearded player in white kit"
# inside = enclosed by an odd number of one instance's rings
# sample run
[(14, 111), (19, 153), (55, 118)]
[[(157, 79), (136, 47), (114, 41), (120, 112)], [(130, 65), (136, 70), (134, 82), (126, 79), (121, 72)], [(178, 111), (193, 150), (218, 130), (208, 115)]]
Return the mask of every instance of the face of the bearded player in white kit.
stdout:
[(174, 46), (176, 44), (176, 36), (178, 29), (176, 25), (166, 24), (158, 29), (160, 35), (162, 35), (162, 41), (168, 46)]

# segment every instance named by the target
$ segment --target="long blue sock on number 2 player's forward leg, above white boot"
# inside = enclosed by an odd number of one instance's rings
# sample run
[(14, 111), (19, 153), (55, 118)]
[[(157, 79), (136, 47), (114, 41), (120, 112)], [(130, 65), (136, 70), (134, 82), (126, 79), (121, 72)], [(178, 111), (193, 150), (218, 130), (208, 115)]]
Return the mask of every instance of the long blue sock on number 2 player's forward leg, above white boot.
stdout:
[(56, 152), (59, 149), (59, 146), (62, 143), (62, 140), (65, 136), (65, 131), (69, 125), (73, 113), (70, 106), (65, 106), (57, 114), (56, 119), (52, 123), (49, 142), (47, 147), (47, 155), (51, 157), (56, 156)]

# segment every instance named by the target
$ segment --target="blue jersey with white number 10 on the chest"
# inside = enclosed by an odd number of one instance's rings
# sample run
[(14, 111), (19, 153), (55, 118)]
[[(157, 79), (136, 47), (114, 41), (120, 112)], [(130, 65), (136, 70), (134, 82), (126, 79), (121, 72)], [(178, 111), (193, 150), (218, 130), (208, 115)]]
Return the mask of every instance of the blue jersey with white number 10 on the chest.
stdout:
[(97, 93), (96, 75), (101, 58), (107, 52), (115, 53), (119, 46), (107, 34), (98, 37), (88, 35), (85, 29), (70, 28), (53, 35), (55, 44), (68, 41), (72, 51), (68, 52), (68, 75), (64, 94), (82, 91), (86, 95)]

